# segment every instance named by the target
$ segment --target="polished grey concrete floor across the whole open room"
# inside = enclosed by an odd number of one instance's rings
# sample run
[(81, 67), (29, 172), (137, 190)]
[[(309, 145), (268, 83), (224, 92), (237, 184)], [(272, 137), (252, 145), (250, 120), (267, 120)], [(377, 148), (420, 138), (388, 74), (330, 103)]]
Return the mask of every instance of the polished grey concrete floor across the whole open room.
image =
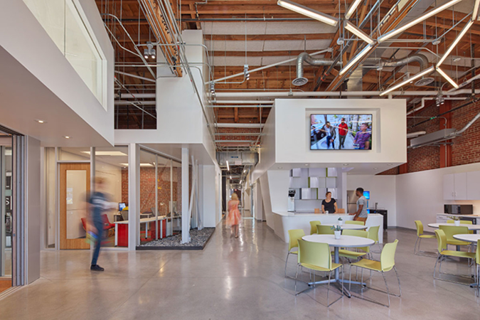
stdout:
[[(265, 223), (244, 220), (240, 232), (235, 239), (218, 228), (203, 252), (104, 251), (102, 273), (90, 272), (89, 251), (42, 252), (41, 279), (0, 300), (0, 319), (480, 319), (474, 289), (434, 281), (435, 259), (412, 254), (413, 231), (386, 235), (400, 240), (402, 297), (392, 297), (390, 309), (356, 297), (326, 308), (325, 287), (295, 297), (293, 280), (283, 276), (287, 245)], [(435, 240), (425, 240), (425, 249), (434, 247)], [(289, 274), (294, 265), (292, 258)], [(444, 270), (469, 272), (457, 262)], [(393, 272), (388, 282), (396, 292)], [(381, 275), (369, 284), (384, 285)], [(373, 290), (363, 296), (387, 302)]]

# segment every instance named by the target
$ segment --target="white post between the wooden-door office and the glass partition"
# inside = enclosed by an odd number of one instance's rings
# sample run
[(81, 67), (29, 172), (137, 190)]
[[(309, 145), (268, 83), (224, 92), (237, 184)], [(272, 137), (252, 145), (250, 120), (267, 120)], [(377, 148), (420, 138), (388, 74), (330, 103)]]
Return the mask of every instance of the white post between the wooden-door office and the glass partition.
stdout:
[(140, 150), (137, 144), (129, 144), (128, 162), (128, 250), (140, 245)]

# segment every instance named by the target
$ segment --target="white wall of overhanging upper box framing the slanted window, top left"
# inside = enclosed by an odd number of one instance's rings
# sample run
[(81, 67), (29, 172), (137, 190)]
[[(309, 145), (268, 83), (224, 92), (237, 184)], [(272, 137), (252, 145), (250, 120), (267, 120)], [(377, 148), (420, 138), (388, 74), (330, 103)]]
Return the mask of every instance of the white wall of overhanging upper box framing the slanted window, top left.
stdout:
[[(114, 52), (95, 1), (80, 0), (107, 57), (107, 111), (23, 1), (0, 9), (0, 111), (2, 124), (41, 140), (43, 146), (114, 142)], [(26, 45), (28, 43), (28, 45)], [(26, 88), (28, 90), (26, 90)], [(11, 112), (11, 106), (16, 112)], [(34, 120), (47, 123), (39, 125)], [(74, 139), (63, 139), (68, 135)]]

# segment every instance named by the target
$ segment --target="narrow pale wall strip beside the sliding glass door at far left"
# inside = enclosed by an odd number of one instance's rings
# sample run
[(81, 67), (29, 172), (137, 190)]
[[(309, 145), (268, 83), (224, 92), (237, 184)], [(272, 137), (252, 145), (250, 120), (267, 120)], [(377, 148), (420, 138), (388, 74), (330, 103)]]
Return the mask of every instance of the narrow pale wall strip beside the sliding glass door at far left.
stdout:
[(26, 137), (26, 283), (40, 277), (40, 142)]

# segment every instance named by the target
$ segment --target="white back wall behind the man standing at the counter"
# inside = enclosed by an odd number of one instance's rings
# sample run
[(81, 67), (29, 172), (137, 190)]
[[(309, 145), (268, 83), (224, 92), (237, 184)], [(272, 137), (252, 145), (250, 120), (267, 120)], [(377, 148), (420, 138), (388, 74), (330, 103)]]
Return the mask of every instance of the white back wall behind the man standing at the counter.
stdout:
[(375, 208), (375, 202), (378, 203), (378, 209), (388, 210), (388, 226), (397, 225), (397, 187), (396, 177), (398, 176), (347, 176), (347, 190), (363, 188), (370, 191), (370, 200), (368, 208)]

